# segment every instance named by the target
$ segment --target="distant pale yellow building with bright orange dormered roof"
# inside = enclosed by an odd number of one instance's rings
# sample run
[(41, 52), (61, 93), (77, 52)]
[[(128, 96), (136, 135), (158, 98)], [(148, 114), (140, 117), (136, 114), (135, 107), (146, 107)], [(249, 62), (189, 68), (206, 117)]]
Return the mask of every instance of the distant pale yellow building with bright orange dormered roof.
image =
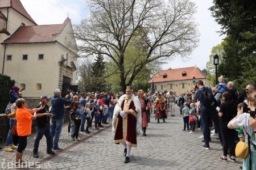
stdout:
[(193, 77), (195, 77), (195, 83), (197, 80), (203, 80), (204, 84), (208, 86), (205, 74), (196, 66), (185, 67), (180, 69), (162, 70), (155, 74), (148, 83), (155, 88), (155, 91), (173, 91), (176, 95), (181, 93), (188, 93), (194, 86)]

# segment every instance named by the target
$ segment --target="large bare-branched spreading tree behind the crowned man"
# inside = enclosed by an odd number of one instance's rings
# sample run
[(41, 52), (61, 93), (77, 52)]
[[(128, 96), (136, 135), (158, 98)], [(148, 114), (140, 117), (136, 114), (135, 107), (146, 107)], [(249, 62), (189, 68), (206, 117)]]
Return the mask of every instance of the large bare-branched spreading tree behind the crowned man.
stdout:
[[(90, 16), (74, 25), (80, 56), (103, 54), (112, 59), (123, 90), (148, 63), (184, 58), (199, 41), (195, 3), (188, 0), (90, 0), (88, 6)], [(147, 46), (125, 69), (127, 46), (138, 29), (147, 32)]]

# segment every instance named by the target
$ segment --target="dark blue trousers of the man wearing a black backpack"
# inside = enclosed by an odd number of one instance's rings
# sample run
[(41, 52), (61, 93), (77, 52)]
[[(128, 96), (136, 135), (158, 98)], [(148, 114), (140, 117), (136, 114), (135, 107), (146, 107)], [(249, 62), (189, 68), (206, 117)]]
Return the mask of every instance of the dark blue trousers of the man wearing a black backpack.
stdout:
[(223, 144), (222, 135), (220, 131), (220, 119), (218, 118), (216, 109), (215, 108), (204, 109), (200, 111), (200, 115), (201, 115), (201, 122), (203, 125), (203, 135), (204, 135), (205, 145), (209, 146), (209, 141), (210, 141), (210, 128), (209, 128), (210, 119), (212, 119), (214, 126), (218, 131), (218, 136), (220, 137), (221, 144)]

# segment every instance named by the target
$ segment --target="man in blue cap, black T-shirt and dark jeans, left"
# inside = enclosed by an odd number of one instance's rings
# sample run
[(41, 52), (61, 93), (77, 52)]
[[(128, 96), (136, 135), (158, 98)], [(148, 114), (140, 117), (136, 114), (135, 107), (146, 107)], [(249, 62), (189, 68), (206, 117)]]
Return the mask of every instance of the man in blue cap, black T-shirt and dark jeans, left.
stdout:
[(49, 121), (51, 119), (52, 114), (49, 113), (49, 107), (47, 103), (51, 98), (47, 95), (43, 95), (40, 98), (40, 103), (36, 108), (40, 108), (41, 105), (45, 105), (42, 110), (38, 111), (36, 114), (36, 138), (34, 143), (34, 150), (33, 156), (34, 158), (38, 158), (38, 147), (39, 142), (43, 138), (46, 137), (46, 144), (47, 144), (47, 154), (55, 154), (55, 152), (51, 149), (51, 130)]

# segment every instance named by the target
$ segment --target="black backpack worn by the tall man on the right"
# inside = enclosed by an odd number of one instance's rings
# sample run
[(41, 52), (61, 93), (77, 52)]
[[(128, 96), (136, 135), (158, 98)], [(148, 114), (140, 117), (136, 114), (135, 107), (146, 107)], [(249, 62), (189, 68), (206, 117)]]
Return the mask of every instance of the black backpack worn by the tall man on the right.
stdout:
[(204, 87), (202, 91), (199, 91), (201, 92), (201, 95), (202, 95), (202, 101), (203, 101), (203, 104), (209, 108), (209, 107), (217, 107), (217, 101), (216, 99), (214, 98), (213, 94), (208, 90), (207, 87)]

